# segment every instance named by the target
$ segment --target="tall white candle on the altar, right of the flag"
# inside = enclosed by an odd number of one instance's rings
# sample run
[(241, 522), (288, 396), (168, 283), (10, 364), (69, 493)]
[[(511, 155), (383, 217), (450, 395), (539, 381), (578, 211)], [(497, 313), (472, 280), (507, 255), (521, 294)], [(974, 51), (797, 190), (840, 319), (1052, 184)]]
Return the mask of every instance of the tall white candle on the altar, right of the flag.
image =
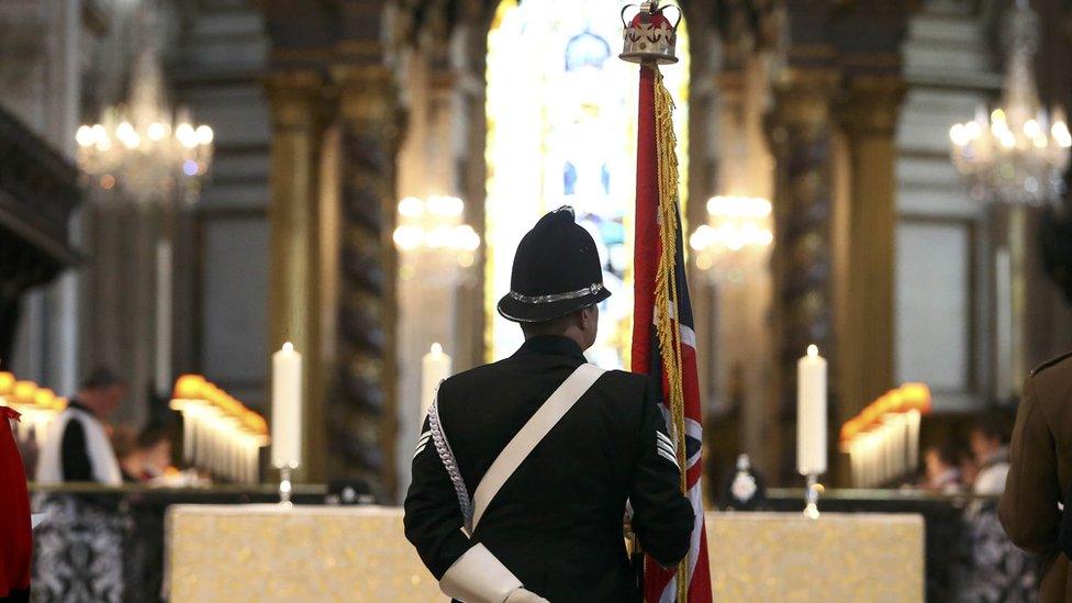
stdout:
[(815, 346), (796, 365), (796, 466), (802, 476), (826, 472), (826, 359)]

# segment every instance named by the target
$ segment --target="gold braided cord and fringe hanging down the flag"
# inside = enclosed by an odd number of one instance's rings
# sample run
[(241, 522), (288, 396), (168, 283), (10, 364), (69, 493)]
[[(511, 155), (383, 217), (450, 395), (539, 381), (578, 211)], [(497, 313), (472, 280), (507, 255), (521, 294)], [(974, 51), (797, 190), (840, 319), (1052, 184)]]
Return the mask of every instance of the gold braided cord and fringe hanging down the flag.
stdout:
[[(659, 170), (659, 237), (662, 250), (659, 255), (656, 273), (656, 332), (659, 337), (659, 351), (667, 375), (670, 400), (670, 418), (673, 437), (678, 445), (678, 466), (681, 467), (681, 492), (688, 495), (689, 485), (685, 468), (685, 418), (684, 387), (682, 376), (681, 323), (678, 316), (678, 279), (675, 254), (678, 250), (678, 154), (677, 136), (673, 133), (673, 98), (662, 83), (662, 74), (655, 70), (655, 130)], [(678, 565), (679, 603), (689, 596), (689, 557)]]

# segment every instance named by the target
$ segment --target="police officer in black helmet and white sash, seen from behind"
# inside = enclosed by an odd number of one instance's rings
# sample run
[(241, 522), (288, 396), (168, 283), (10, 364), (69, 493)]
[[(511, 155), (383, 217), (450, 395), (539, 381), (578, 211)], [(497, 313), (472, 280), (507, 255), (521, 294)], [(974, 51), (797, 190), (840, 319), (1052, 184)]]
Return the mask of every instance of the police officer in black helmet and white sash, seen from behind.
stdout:
[(499, 302), (525, 343), (445, 380), (413, 457), (405, 535), (467, 603), (639, 601), (623, 538), (626, 502), (648, 555), (675, 565), (693, 511), (654, 384), (582, 355), (610, 297), (572, 208), (517, 247)]

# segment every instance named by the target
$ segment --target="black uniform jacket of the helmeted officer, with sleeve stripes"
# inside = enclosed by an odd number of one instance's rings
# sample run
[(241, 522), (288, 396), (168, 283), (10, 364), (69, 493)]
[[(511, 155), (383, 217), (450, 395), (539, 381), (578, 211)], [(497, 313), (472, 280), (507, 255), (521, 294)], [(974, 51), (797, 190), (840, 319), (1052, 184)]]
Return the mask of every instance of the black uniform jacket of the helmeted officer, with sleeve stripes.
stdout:
[[(443, 429), (471, 494), (484, 472), (550, 394), (583, 364), (562, 337), (534, 337), (505, 360), (443, 382)], [(422, 434), (428, 432), (425, 421)], [(555, 602), (637, 601), (622, 520), (666, 566), (689, 549), (693, 512), (650, 380), (607, 371), (536, 446), (484, 512), (472, 540), (431, 438), (413, 457), (405, 535), (436, 579), (482, 543), (528, 590)]]

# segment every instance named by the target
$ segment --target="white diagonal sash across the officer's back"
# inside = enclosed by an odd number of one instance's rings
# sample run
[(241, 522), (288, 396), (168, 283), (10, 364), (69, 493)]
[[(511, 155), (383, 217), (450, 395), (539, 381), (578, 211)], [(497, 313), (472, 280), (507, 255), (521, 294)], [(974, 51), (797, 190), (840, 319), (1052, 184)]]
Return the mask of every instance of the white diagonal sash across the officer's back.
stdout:
[(603, 372), (603, 369), (595, 365), (585, 364), (578, 367), (544, 402), (528, 420), (528, 423), (525, 423), (525, 426), (517, 432), (510, 444), (503, 448), (499, 458), (491, 464), (488, 472), (480, 480), (476, 493), (473, 493), (472, 529), (477, 528), (480, 517), (495, 494), (499, 493), (499, 490), (510, 479), (510, 476), (514, 474), (514, 471), (528, 458), (536, 445), (566, 416), (566, 413), (573, 407), (573, 404), (584, 395)]

